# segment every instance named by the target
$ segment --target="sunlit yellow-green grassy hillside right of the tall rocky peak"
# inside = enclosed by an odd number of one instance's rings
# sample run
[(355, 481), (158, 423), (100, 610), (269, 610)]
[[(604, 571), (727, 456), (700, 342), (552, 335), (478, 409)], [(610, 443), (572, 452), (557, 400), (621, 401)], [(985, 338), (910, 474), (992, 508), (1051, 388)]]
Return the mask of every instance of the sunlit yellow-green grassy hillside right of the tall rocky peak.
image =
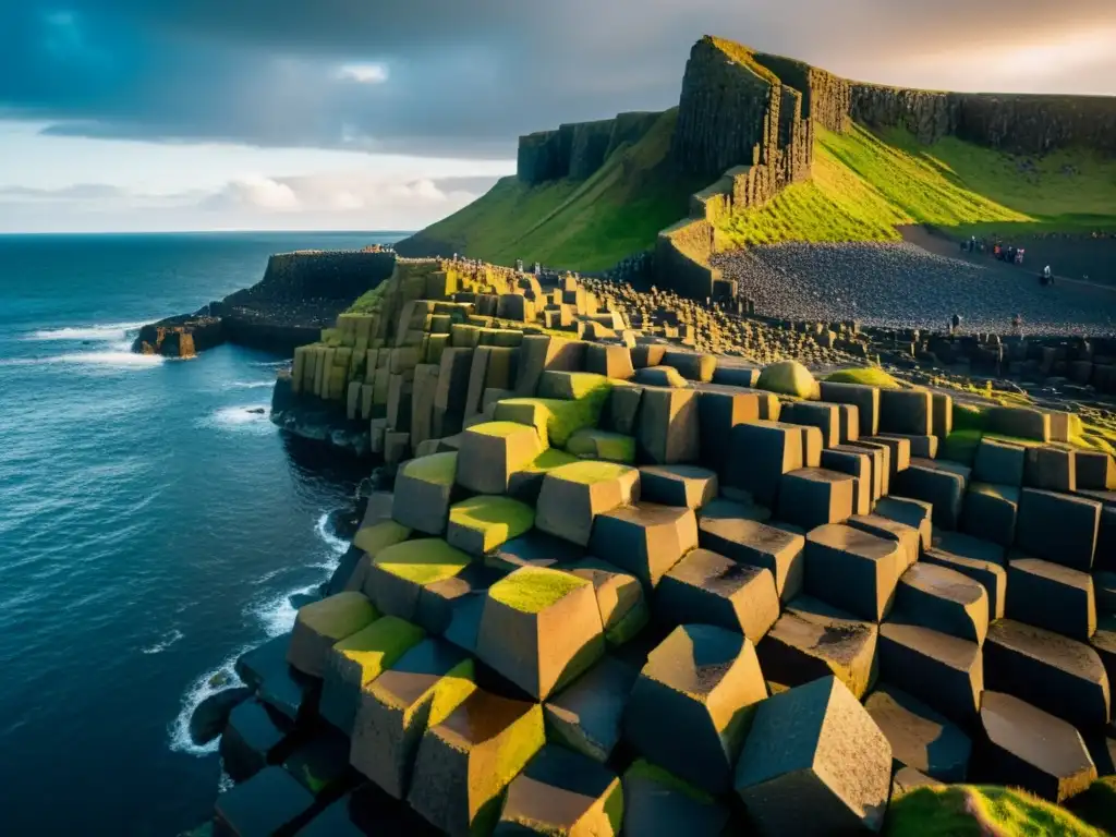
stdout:
[(725, 220), (721, 233), (730, 246), (887, 241), (910, 223), (962, 234), (1116, 229), (1116, 161), (1021, 158), (953, 137), (925, 146), (904, 131), (818, 128), (812, 181)]

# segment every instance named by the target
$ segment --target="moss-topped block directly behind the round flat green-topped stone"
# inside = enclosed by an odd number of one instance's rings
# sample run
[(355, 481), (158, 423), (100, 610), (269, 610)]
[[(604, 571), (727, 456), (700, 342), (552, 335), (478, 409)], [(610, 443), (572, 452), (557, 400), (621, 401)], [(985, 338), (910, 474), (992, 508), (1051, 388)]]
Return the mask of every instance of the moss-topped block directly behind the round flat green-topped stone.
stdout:
[(514, 422), (474, 424), (461, 436), (458, 483), (481, 494), (506, 494), (511, 474), (530, 465), (542, 448), (532, 427)]

